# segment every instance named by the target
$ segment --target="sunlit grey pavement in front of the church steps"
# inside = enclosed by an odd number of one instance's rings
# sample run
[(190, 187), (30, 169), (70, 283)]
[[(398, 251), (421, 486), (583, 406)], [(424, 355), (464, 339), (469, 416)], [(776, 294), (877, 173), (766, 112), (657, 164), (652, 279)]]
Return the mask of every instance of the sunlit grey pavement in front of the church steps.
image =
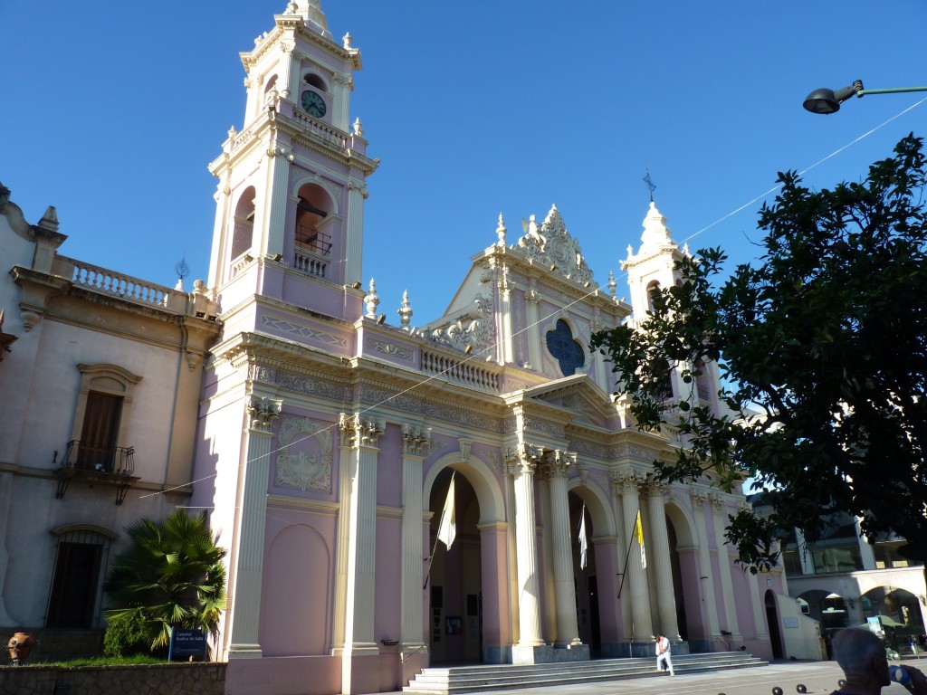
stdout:
[[(905, 663), (927, 673), (927, 659), (904, 659)], [(898, 663), (898, 662), (892, 662)], [(545, 686), (507, 690), (479, 690), (470, 695), (772, 695), (772, 689), (781, 688), (783, 695), (797, 693), (804, 685), (808, 695), (830, 695), (839, 688), (844, 677), (836, 662), (777, 661), (768, 666), (731, 669), (730, 671), (679, 674), (607, 680), (578, 685)], [(397, 691), (391, 695), (401, 695)], [(882, 695), (908, 695), (903, 686), (892, 683)]]

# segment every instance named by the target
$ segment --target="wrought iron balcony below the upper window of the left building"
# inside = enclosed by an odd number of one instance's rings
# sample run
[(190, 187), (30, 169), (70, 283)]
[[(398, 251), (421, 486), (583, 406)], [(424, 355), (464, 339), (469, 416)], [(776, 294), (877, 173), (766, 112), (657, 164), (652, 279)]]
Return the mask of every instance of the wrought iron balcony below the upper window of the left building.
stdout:
[(138, 480), (134, 475), (134, 447), (101, 447), (72, 439), (61, 461), (58, 461), (57, 453), (52, 460), (57, 463), (57, 499), (64, 497), (71, 480), (78, 479), (92, 485), (98, 483), (116, 487), (116, 504), (121, 504), (133, 481)]

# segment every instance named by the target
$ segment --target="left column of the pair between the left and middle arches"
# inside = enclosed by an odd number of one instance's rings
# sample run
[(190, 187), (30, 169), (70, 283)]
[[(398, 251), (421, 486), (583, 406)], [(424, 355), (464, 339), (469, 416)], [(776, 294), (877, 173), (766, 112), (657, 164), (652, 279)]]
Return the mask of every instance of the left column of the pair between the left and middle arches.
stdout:
[(534, 513), (534, 469), (541, 451), (529, 445), (517, 450), (514, 474), (515, 536), (518, 557), (518, 647), (538, 647), (540, 637), (540, 582), (537, 527)]

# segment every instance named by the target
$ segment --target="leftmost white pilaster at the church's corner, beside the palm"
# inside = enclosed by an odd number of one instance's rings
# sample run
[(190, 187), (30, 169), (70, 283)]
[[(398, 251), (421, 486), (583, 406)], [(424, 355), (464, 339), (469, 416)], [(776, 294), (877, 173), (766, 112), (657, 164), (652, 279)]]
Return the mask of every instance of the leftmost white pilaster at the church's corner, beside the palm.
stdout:
[(280, 417), (281, 401), (252, 396), (248, 402), (245, 461), (242, 461), (235, 513), (235, 581), (229, 596), (229, 638), (225, 658), (262, 656), (260, 580), (264, 565), (264, 520), (271, 463), (271, 426)]

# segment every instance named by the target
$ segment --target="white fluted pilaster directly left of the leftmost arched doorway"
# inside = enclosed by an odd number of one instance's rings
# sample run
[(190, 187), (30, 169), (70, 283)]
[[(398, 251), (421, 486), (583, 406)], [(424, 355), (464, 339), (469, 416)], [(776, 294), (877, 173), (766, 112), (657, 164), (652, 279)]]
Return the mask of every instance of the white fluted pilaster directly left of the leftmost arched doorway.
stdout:
[(425, 583), (422, 557), (424, 493), (422, 460), (428, 452), (431, 430), (402, 425), (402, 610), (400, 641), (403, 652), (425, 649)]

